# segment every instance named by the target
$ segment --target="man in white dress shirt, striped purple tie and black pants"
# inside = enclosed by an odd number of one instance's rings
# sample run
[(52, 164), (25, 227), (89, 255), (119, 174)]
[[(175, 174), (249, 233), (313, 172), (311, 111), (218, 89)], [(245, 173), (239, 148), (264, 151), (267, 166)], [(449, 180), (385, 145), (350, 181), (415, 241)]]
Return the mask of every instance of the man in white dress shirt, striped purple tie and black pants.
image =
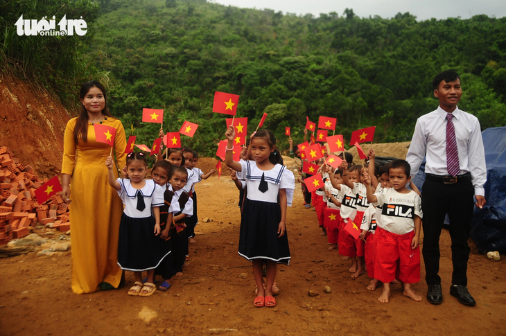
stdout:
[(434, 96), (439, 107), (418, 118), (406, 161), (411, 175), (417, 175), (426, 157), (426, 181), (421, 191), (424, 212), (423, 255), (430, 303), (443, 301), (439, 272), (439, 236), (446, 213), (450, 218), (453, 275), (450, 294), (466, 306), (475, 306), (467, 290), (467, 240), (476, 206), (485, 206), (487, 181), (485, 150), (480, 122), (476, 116), (461, 111), (457, 103), (462, 96), (460, 78), (453, 70), (439, 73), (433, 80)]

